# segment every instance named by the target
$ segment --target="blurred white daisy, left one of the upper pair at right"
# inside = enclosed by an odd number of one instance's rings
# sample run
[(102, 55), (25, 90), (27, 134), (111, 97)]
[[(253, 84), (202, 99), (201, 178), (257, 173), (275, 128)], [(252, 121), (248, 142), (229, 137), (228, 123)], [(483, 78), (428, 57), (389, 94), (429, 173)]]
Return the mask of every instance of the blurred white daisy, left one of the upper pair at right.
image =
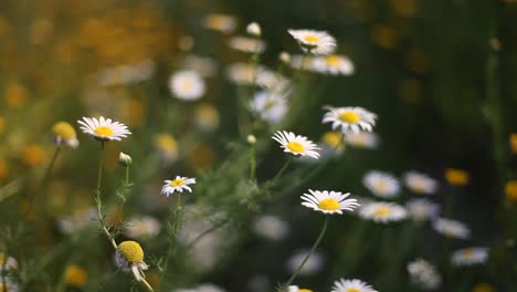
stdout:
[(381, 198), (397, 197), (400, 190), (400, 182), (392, 175), (383, 171), (371, 170), (362, 178), (362, 184), (373, 195)]

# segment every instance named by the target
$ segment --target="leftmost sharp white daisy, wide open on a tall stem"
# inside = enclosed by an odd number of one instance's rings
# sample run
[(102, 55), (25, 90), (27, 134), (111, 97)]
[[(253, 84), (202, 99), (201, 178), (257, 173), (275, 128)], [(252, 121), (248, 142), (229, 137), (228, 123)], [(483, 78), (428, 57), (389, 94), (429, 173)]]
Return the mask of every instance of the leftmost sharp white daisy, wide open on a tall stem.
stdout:
[(120, 140), (131, 135), (126, 125), (114, 122), (110, 118), (104, 118), (104, 116), (101, 116), (98, 119), (95, 117), (83, 117), (83, 121), (77, 121), (77, 123), (85, 134), (94, 136), (95, 139), (101, 142)]

